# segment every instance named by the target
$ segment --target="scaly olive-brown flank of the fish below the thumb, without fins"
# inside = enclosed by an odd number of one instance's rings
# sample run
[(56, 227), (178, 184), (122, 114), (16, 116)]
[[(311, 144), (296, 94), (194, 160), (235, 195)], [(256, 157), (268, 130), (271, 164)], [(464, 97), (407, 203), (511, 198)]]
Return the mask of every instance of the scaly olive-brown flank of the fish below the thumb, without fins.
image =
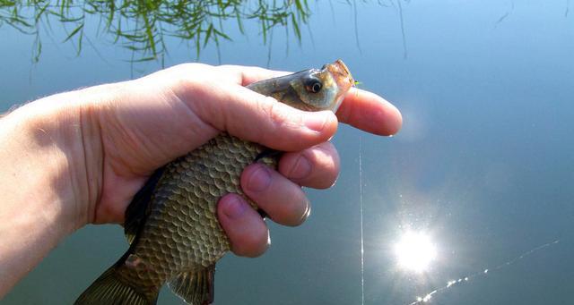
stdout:
[[(169, 179), (162, 178), (156, 186), (150, 216), (135, 246), (136, 254), (132, 254), (132, 259), (147, 263), (135, 269), (122, 266), (117, 272), (126, 278), (135, 272), (138, 284), (154, 292), (158, 283), (181, 272), (209, 267), (222, 258), (230, 250), (230, 243), (216, 217), (217, 201), (233, 192), (257, 207), (244, 195), (239, 177), (264, 149), (222, 133), (167, 165), (163, 177)], [(264, 160), (266, 165), (276, 167), (274, 159)]]

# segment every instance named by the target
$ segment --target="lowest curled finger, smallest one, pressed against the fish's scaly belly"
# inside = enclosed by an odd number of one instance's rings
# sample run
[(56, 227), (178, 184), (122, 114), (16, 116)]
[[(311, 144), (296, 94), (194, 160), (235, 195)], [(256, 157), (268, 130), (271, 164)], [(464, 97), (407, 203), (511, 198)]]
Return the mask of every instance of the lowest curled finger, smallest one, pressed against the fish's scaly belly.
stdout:
[(269, 230), (265, 222), (237, 194), (227, 194), (217, 204), (217, 217), (231, 243), (231, 251), (255, 258), (269, 247)]

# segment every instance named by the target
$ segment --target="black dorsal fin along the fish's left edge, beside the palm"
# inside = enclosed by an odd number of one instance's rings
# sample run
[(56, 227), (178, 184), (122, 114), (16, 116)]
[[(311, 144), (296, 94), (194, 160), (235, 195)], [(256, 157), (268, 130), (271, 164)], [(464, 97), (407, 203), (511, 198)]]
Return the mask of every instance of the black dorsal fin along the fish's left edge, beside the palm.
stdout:
[(165, 166), (160, 167), (153, 172), (150, 179), (145, 182), (140, 191), (137, 191), (134, 199), (132, 199), (132, 202), (130, 202), (129, 206), (126, 208), (124, 233), (126, 234), (126, 239), (130, 244), (135, 240), (135, 235), (137, 235), (137, 232), (145, 222), (148, 207), (152, 201), (153, 191), (155, 191), (155, 186), (160, 181), (164, 170)]

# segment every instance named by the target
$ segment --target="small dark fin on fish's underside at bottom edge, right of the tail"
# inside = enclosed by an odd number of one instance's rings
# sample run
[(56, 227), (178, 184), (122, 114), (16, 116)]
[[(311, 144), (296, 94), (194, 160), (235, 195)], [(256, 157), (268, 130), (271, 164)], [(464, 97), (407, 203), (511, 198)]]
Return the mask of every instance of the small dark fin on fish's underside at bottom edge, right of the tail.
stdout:
[(173, 292), (190, 305), (213, 303), (215, 264), (195, 273), (182, 273), (170, 280)]

